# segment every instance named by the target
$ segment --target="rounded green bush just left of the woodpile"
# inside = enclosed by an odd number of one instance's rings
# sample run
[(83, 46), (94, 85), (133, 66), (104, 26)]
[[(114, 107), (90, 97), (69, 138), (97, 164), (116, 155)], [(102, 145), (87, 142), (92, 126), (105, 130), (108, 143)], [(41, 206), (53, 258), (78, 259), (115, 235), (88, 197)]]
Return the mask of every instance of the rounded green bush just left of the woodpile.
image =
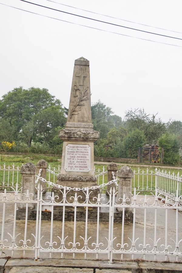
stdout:
[(123, 147), (122, 147), (122, 154), (125, 158), (137, 158), (138, 156), (138, 149), (143, 147), (145, 143), (145, 136), (143, 131), (138, 129), (130, 132), (124, 139), (123, 139)]

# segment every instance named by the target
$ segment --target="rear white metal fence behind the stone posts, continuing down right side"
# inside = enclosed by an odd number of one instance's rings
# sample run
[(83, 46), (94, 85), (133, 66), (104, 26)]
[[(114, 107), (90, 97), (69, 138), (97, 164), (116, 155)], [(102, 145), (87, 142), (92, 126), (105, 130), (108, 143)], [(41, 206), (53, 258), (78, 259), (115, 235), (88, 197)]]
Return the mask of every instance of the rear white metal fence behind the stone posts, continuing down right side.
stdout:
[[(16, 188), (16, 183), (18, 183), (18, 188), (21, 187), (21, 170), (22, 166), (15, 167), (15, 164), (11, 166), (0, 165), (0, 190), (11, 191), (12, 188)], [(47, 177), (48, 181), (53, 183), (56, 182), (56, 177), (60, 173), (61, 166), (58, 167), (49, 167), (47, 168)], [(103, 168), (94, 168), (95, 175), (98, 177), (97, 182), (98, 185), (107, 182), (107, 170), (105, 167)], [(174, 200), (176, 190), (178, 189), (178, 196), (182, 195), (182, 175), (167, 173), (167, 171), (150, 170), (141, 170), (138, 168), (137, 170), (133, 170), (133, 181), (132, 181), (132, 192), (134, 192), (134, 188), (136, 188), (136, 192), (140, 192), (143, 194), (151, 194), (155, 193), (155, 189), (157, 187), (158, 193), (160, 193), (163, 197), (166, 195)], [(50, 184), (46, 184), (47, 191), (51, 191), (52, 186)], [(102, 193), (104, 193), (106, 187), (102, 187)]]

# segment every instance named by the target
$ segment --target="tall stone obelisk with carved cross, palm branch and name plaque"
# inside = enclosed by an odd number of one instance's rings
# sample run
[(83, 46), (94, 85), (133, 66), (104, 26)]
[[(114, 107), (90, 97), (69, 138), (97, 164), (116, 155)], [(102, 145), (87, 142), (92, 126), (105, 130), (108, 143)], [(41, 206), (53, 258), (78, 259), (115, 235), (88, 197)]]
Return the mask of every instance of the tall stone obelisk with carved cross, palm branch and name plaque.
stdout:
[[(93, 143), (99, 132), (93, 130), (89, 61), (83, 57), (75, 60), (66, 128), (59, 131), (59, 137), (63, 140), (63, 150), (56, 183), (72, 188), (96, 186)], [(53, 191), (57, 194), (59, 190), (53, 188)], [(94, 194), (97, 196), (98, 190)]]

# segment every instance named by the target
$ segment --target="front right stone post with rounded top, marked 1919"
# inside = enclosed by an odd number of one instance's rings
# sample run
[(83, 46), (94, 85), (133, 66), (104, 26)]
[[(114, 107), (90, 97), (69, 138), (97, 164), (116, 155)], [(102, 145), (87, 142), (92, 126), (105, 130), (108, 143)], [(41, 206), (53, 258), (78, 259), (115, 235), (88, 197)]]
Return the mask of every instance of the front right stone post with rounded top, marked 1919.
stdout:
[[(119, 198), (123, 198), (125, 194), (125, 198), (129, 198), (130, 200), (126, 200), (126, 204), (131, 204), (131, 188), (132, 188), (132, 177), (133, 171), (128, 166), (123, 166), (118, 170), (117, 176), (119, 178), (118, 183), (118, 204), (122, 203), (122, 200)], [(116, 210), (118, 212), (122, 212), (123, 208), (117, 207)], [(127, 209), (126, 211), (131, 212), (131, 210)]]

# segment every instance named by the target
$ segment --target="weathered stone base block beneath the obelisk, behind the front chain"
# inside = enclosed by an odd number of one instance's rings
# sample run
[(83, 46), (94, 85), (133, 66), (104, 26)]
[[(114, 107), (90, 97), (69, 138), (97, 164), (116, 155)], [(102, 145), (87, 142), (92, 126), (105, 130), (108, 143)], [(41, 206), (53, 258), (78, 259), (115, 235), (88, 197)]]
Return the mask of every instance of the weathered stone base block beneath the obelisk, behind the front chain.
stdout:
[[(86, 188), (86, 187), (93, 187), (98, 186), (96, 182), (86, 182), (86, 181), (56, 181), (56, 184), (62, 185), (63, 187), (71, 187), (71, 188)], [(60, 202), (63, 198), (63, 191), (64, 189), (60, 189), (57, 187), (52, 187), (52, 192), (54, 192), (54, 196), (58, 196), (59, 199), (57, 199), (57, 202)], [(68, 203), (73, 203), (75, 197), (75, 193), (77, 194), (77, 199), (79, 203), (84, 203), (86, 200), (86, 190), (66, 190), (66, 201)], [(92, 204), (96, 203), (96, 198), (98, 198), (98, 194), (100, 194), (101, 197), (101, 190), (100, 189), (94, 189), (89, 190), (89, 202)], [(56, 201), (56, 198), (55, 198)], [(58, 207), (59, 208), (59, 207)]]

